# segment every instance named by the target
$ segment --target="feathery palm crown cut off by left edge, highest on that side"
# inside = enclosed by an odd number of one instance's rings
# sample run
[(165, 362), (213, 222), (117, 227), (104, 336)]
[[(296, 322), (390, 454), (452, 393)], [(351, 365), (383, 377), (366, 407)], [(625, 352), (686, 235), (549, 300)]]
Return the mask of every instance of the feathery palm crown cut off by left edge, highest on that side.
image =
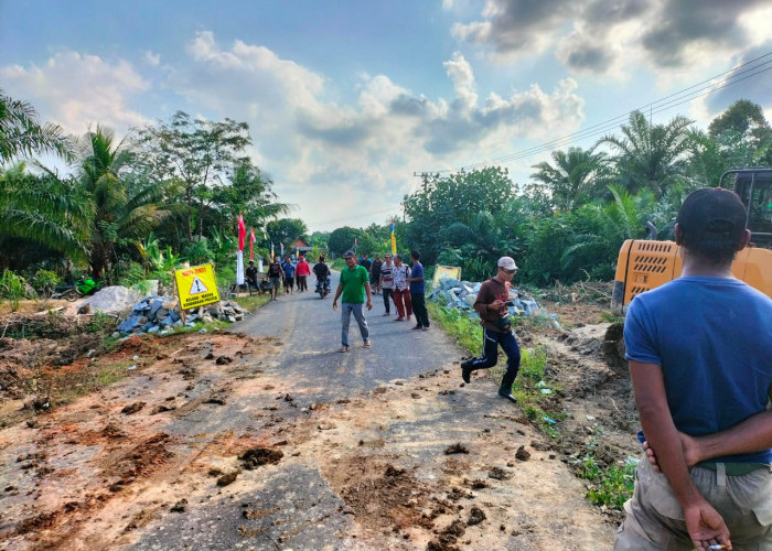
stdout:
[(33, 153), (71, 156), (71, 142), (57, 125), (37, 122), (37, 112), (26, 101), (3, 94), (0, 88), (0, 163)]

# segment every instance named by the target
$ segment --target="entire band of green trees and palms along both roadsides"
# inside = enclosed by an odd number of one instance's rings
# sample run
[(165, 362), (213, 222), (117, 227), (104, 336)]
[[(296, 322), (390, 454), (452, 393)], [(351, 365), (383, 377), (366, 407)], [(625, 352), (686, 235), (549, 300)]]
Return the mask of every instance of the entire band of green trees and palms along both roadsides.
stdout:
[[(388, 222), (308, 235), (285, 217), (291, 205), (247, 156), (250, 143), (246, 122), (182, 111), (122, 140), (100, 126), (73, 138), (0, 89), (0, 268), (132, 284), (168, 280), (185, 260), (215, 262), (227, 280), (239, 213), (262, 257), (271, 242), (278, 253), (297, 238), (333, 255), (354, 244), (390, 250)], [(34, 160), (42, 154), (60, 156), (71, 174)], [(427, 266), (460, 266), (470, 280), (487, 278), (503, 255), (517, 259), (522, 282), (609, 280), (624, 239), (643, 237), (646, 223), (672, 237), (691, 190), (748, 165), (772, 165), (772, 129), (755, 104), (737, 101), (707, 131), (682, 116), (654, 125), (635, 111), (619, 134), (554, 151), (526, 182), (500, 166), (423, 175), (395, 216), (397, 244), (403, 253), (419, 249)]]

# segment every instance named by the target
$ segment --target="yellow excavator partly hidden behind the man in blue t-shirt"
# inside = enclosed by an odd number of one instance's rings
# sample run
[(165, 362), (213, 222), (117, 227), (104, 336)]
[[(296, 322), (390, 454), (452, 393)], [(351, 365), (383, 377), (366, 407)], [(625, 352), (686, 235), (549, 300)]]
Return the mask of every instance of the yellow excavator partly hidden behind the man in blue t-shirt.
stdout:
[[(749, 285), (772, 296), (772, 168), (732, 169), (721, 175), (719, 185), (735, 190), (748, 212), (751, 245), (735, 257), (732, 273)], [(628, 239), (622, 244), (611, 292), (611, 311), (624, 315), (636, 294), (680, 276), (682, 260), (674, 241)], [(607, 361), (624, 364), (623, 324), (613, 323), (605, 332)]]

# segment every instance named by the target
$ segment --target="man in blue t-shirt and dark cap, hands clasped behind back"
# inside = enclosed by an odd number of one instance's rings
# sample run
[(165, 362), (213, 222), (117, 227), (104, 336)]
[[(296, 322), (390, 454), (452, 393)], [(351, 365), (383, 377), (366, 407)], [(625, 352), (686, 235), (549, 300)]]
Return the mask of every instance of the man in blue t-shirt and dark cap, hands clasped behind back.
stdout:
[(652, 458), (639, 463), (615, 551), (772, 549), (772, 300), (731, 272), (746, 216), (733, 192), (691, 193), (675, 225), (682, 276), (628, 311)]

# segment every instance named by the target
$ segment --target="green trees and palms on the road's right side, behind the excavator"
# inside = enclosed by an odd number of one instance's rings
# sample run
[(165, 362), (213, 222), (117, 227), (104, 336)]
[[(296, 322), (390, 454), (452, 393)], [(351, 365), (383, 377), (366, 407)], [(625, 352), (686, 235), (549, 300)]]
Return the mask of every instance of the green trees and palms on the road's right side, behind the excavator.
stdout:
[[(472, 281), (489, 278), (505, 255), (517, 259), (521, 283), (608, 281), (624, 239), (646, 237), (647, 223), (657, 238), (673, 238), (689, 192), (719, 185), (731, 168), (772, 165), (772, 128), (748, 100), (730, 106), (707, 131), (683, 116), (657, 125), (634, 111), (619, 134), (550, 156), (521, 183), (500, 166), (423, 175), (420, 188), (404, 197), (397, 242), (418, 248), (426, 264), (460, 266)], [(384, 252), (387, 228), (339, 228), (330, 247), (340, 251), (354, 236), (361, 242), (375, 236), (365, 250)], [(340, 245), (339, 236), (345, 236)]]

